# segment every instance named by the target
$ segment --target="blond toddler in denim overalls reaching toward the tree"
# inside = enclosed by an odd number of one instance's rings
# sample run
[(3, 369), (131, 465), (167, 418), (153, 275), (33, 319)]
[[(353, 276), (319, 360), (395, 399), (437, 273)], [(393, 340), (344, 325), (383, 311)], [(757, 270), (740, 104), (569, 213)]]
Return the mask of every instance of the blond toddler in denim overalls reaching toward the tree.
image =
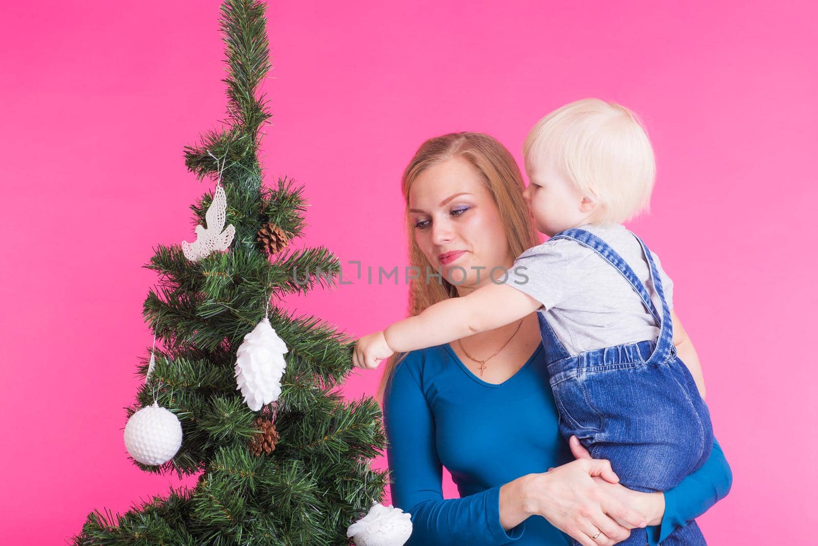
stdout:
[[(560, 433), (608, 459), (622, 485), (668, 490), (707, 460), (712, 426), (699, 360), (672, 311), (672, 282), (622, 226), (649, 205), (655, 163), (647, 134), (627, 108), (585, 99), (540, 120), (524, 159), (525, 199), (551, 238), (519, 255), (503, 282), (362, 337), (353, 363), (375, 368), (394, 352), (536, 310)], [(646, 542), (636, 528), (620, 544)], [(706, 543), (691, 521), (663, 544)]]

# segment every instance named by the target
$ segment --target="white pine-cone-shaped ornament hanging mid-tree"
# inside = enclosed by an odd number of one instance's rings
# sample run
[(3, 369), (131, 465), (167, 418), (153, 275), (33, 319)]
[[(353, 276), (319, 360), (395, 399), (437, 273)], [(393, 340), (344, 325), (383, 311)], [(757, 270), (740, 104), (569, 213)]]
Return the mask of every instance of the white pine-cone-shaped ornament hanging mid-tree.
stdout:
[(245, 336), (236, 353), (236, 390), (254, 412), (275, 402), (281, 395), (281, 376), (287, 363), (287, 346), (264, 317), (253, 332)]

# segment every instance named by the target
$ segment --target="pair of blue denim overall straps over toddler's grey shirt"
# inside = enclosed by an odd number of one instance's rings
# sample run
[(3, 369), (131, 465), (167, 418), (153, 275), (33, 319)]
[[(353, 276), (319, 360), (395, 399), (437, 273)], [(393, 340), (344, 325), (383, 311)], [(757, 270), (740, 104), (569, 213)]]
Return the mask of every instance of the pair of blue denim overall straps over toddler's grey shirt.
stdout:
[[(653, 256), (650, 255), (650, 250), (648, 250), (648, 247), (645, 246), (645, 242), (636, 236), (636, 233), (631, 234), (636, 237), (636, 241), (639, 241), (639, 244), (642, 247), (642, 252), (645, 254), (645, 259), (648, 261), (650, 279), (654, 283), (654, 287), (656, 287), (659, 300), (662, 302), (661, 318), (659, 318), (659, 314), (653, 300), (650, 299), (648, 289), (645, 288), (645, 285), (642, 284), (642, 282), (636, 276), (636, 273), (634, 273), (631, 266), (628, 265), (627, 262), (622, 259), (622, 256), (620, 256), (616, 250), (613, 250), (608, 243), (600, 239), (600, 237), (596, 237), (596, 235), (584, 229), (571, 228), (555, 234), (555, 236), (551, 237), (549, 241), (554, 239), (570, 239), (571, 241), (576, 241), (582, 246), (587, 246), (591, 250), (594, 250), (596, 254), (600, 255), (602, 259), (605, 259), (605, 261), (613, 265), (613, 267), (622, 274), (622, 277), (625, 278), (633, 290), (640, 296), (643, 305), (645, 305), (648, 312), (653, 315), (656, 325), (659, 327), (656, 350), (654, 350), (654, 354), (651, 355), (650, 360), (661, 363), (665, 358), (667, 358), (667, 352), (671, 350), (673, 345), (673, 323), (670, 317), (670, 308), (667, 306), (667, 301), (665, 300), (664, 290), (662, 287), (662, 279), (659, 278)], [(658, 359), (662, 360), (659, 361)]]

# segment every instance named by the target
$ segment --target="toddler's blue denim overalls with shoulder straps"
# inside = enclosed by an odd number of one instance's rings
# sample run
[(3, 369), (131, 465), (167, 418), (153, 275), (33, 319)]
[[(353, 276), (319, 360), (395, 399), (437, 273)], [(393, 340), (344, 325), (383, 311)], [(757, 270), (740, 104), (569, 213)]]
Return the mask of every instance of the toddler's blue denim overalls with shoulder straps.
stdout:
[[(622, 485), (639, 491), (671, 489), (710, 456), (712, 425), (693, 376), (676, 355), (670, 309), (654, 259), (636, 237), (662, 300), (661, 319), (645, 285), (600, 237), (572, 228), (550, 240), (555, 239), (587, 246), (617, 268), (659, 327), (657, 341), (615, 345), (572, 357), (543, 314), (537, 313), (551, 390), (560, 414), (560, 433), (566, 440), (577, 435), (591, 457), (608, 459)], [(646, 543), (645, 530), (636, 528), (629, 539), (618, 544)], [(691, 521), (662, 544), (706, 543), (699, 526)]]

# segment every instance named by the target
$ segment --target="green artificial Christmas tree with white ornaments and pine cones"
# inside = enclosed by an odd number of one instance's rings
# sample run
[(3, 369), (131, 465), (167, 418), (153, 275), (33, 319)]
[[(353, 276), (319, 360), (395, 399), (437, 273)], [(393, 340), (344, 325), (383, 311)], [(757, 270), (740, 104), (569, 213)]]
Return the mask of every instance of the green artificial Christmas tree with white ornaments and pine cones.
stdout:
[(264, 6), (227, 0), (221, 11), (227, 124), (185, 150), (188, 169), (216, 186), (191, 207), (196, 241), (159, 246), (146, 265), (160, 284), (143, 315), (163, 348), (151, 352), (150, 374), (148, 363), (139, 367), (146, 385), (126, 412), (160, 409), (155, 402), (182, 425), (173, 458), (162, 462), (172, 452), (160, 446), (137, 466), (202, 474), (195, 487), (171, 487), (122, 515), (90, 513), (77, 545), (348, 544), (348, 527), (383, 499), (387, 473), (369, 464), (386, 442), (380, 408), (337, 390), (352, 370), (353, 340), (270, 305), (330, 284), (340, 264), (326, 248), (288, 246), (303, 232), (303, 188), (262, 183)]

